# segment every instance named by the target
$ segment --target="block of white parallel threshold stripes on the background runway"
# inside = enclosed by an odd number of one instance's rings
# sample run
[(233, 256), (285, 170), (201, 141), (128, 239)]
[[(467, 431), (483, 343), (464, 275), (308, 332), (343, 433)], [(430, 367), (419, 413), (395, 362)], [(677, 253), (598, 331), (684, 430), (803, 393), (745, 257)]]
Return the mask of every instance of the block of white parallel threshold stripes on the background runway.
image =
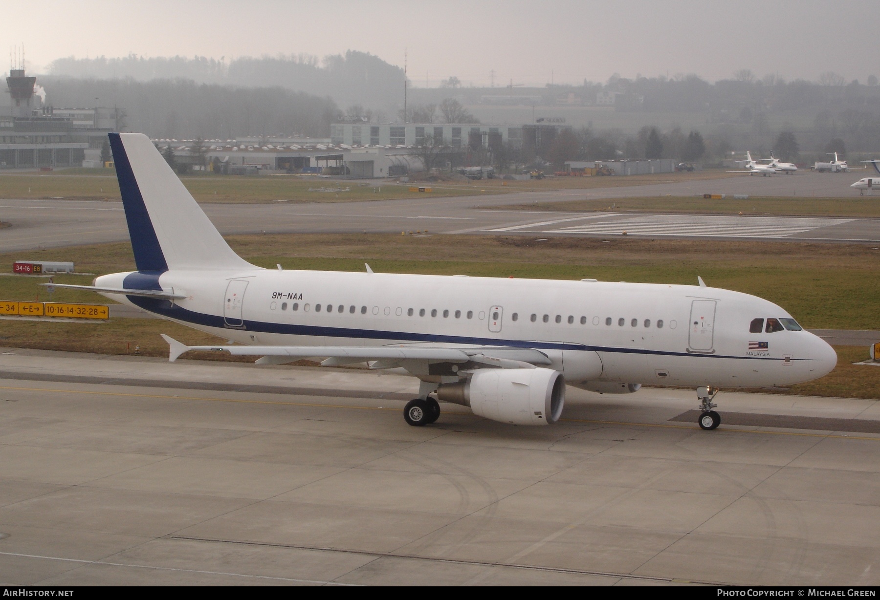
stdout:
[[(570, 219), (574, 220), (574, 219)], [(712, 238), (786, 238), (831, 225), (852, 223), (854, 219), (785, 216), (690, 216), (651, 215), (583, 223), (544, 233), (583, 233), (644, 236), (707, 236)], [(543, 223), (534, 223), (537, 227)]]

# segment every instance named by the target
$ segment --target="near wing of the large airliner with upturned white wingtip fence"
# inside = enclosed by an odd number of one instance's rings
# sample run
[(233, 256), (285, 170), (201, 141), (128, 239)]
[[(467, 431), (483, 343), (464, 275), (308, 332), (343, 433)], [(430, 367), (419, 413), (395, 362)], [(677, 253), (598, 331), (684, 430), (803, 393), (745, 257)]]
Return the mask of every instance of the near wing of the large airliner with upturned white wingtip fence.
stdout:
[[(420, 366), (438, 362), (468, 364), (502, 369), (532, 368), (551, 364), (551, 360), (534, 348), (497, 348), (479, 346), (472, 348), (451, 348), (448, 346), (415, 346), (399, 344), (393, 346), (187, 346), (162, 334), (168, 342), (168, 359), (174, 362), (180, 355), (190, 350), (228, 352), (233, 356), (262, 356), (260, 363), (292, 362), (300, 358), (324, 358), (321, 364), (335, 366), (353, 362), (371, 362), (372, 369), (394, 369), (407, 363), (418, 362)], [(473, 365), (471, 364), (473, 363)], [(412, 365), (411, 365), (412, 366)], [(407, 368), (407, 370), (410, 370)]]

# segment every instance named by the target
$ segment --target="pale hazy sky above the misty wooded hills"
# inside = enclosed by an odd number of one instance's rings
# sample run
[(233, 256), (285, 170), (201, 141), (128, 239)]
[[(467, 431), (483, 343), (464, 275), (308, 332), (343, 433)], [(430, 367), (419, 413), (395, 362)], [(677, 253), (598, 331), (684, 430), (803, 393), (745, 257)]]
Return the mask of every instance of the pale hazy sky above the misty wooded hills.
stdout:
[[(880, 76), (877, 0), (78, 0), (4, 2), (0, 48), (28, 69), (62, 56), (324, 56), (347, 49), (403, 65), (418, 87), (544, 85), (751, 69), (815, 80)], [(0, 63), (0, 70), (8, 64)]]

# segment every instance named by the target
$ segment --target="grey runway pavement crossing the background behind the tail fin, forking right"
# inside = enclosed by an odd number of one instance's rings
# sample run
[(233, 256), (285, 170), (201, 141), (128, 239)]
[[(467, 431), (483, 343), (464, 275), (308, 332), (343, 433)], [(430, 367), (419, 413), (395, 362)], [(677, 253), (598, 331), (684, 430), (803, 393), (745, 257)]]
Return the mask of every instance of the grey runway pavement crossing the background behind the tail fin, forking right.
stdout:
[[(735, 175), (708, 181), (674, 181), (649, 186), (586, 190), (549, 190), (517, 194), (481, 194), (450, 198), (312, 204), (203, 204), (224, 234), (369, 232), (489, 235), (605, 236), (678, 238), (792, 239), (880, 243), (880, 219), (832, 219), (784, 216), (618, 215), (494, 210), (488, 207), (540, 201), (694, 195), (702, 193), (830, 196), (852, 194), (846, 175), (797, 173), (792, 176)], [(0, 179), (2, 182), (2, 179)], [(846, 185), (843, 185), (846, 184)], [(75, 200), (0, 200), (0, 252), (38, 247), (118, 242), (128, 239), (121, 202)], [(544, 223), (544, 226), (539, 223)]]

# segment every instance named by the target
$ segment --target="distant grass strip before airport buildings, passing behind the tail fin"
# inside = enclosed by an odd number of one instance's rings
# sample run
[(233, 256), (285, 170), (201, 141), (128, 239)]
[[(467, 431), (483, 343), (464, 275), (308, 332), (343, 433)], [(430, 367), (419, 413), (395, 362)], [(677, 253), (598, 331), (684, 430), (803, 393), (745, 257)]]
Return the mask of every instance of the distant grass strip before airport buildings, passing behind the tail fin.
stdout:
[[(72, 172), (72, 173), (71, 173)], [(86, 173), (83, 172), (94, 172)], [(485, 179), (472, 182), (425, 182), (432, 192), (410, 192), (408, 183), (370, 182), (297, 176), (191, 175), (181, 179), (200, 202), (347, 202), (394, 200), (418, 196), (448, 197), (510, 192), (590, 189), (639, 186), (684, 179), (718, 179), (725, 172), (663, 173), (631, 177), (556, 177), (529, 181)], [(416, 185), (416, 184), (414, 184)], [(119, 200), (119, 185), (113, 169), (70, 169), (50, 173), (0, 174), (0, 198), (60, 198), (68, 200)]]

